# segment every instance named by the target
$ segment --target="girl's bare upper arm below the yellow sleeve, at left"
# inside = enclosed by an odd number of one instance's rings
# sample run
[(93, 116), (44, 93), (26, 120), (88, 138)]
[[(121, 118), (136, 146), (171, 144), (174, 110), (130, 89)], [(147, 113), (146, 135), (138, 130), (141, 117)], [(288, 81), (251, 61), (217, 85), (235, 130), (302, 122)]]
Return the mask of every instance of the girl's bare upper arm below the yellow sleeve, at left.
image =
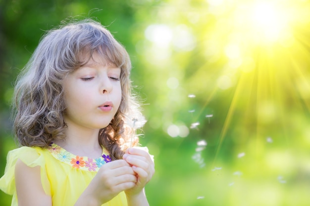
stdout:
[(18, 159), (15, 185), (18, 206), (52, 206), (52, 198), (45, 194), (41, 183), (40, 166), (29, 167)]

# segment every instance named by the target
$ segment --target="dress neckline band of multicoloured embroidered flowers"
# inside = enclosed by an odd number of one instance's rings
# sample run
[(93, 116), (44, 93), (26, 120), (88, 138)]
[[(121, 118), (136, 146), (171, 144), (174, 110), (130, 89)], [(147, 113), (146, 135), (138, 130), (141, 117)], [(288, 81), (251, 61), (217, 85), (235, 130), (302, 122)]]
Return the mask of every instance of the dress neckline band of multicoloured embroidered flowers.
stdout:
[(75, 169), (95, 172), (98, 171), (102, 165), (111, 162), (110, 155), (105, 152), (104, 148), (102, 155), (97, 159), (74, 155), (53, 142), (48, 147), (48, 150), (55, 159), (62, 163), (70, 165), (72, 166), (72, 168)]

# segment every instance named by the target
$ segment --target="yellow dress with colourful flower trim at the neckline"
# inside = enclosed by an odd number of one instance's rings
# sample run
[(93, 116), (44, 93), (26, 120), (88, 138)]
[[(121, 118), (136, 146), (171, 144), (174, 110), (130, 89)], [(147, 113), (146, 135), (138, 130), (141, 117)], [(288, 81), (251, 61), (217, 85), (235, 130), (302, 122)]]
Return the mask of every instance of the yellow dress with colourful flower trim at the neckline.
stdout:
[[(52, 206), (74, 206), (100, 167), (110, 162), (105, 152), (98, 159), (91, 159), (73, 155), (56, 144), (48, 149), (20, 147), (12, 150), (7, 155), (4, 175), (0, 178), (0, 189), (13, 195), (11, 206), (18, 206), (14, 177), (17, 159), (30, 167), (41, 166), (42, 186), (52, 197)], [(125, 193), (119, 193), (102, 206), (127, 206)]]

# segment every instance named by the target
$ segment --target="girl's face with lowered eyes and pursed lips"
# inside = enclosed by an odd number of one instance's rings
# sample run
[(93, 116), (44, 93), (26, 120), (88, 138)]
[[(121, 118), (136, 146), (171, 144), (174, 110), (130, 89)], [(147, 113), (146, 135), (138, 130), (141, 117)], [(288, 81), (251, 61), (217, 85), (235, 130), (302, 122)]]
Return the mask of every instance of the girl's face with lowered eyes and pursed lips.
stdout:
[(64, 80), (65, 123), (91, 129), (106, 127), (121, 102), (120, 68), (103, 65), (97, 54)]

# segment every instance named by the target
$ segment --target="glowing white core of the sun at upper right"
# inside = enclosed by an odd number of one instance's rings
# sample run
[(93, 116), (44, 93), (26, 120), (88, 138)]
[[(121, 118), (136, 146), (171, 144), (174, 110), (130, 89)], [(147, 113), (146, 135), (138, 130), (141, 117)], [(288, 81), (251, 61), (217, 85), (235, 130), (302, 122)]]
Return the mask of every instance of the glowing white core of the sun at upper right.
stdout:
[(236, 4), (235, 30), (248, 34), (251, 41), (281, 41), (289, 31), (290, 15), (286, 6), (272, 0)]

